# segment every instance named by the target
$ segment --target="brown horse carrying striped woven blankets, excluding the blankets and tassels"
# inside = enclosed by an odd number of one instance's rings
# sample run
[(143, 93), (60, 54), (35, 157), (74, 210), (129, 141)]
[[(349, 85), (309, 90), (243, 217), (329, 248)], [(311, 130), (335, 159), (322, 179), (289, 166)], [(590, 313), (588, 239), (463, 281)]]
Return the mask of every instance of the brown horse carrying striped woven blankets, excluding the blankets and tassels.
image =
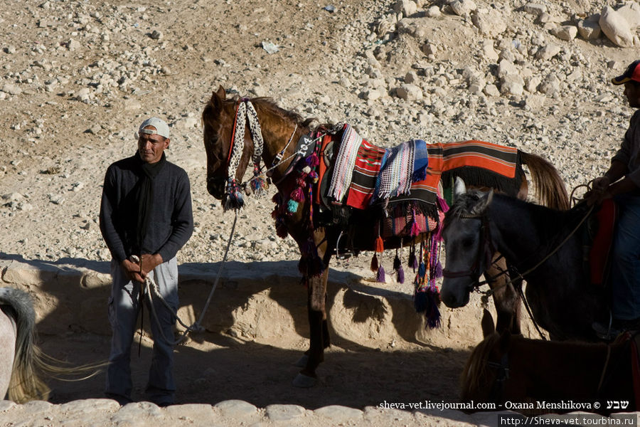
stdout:
[[(247, 124), (243, 125), (245, 118), (238, 127), (235, 126), (236, 116), (240, 108), (247, 109)], [(250, 111), (252, 110), (252, 112)], [(283, 110), (267, 98), (227, 99), (222, 86), (214, 92), (202, 114), (204, 145), (207, 153), (207, 189), (218, 200), (222, 200), (225, 209), (237, 208), (241, 203), (240, 181), (245, 174), (250, 159), (253, 159), (254, 170), (258, 170), (258, 164), (264, 162), (270, 167), (268, 175), (275, 183), (278, 193), (274, 201), (280, 206), (292, 191), (299, 187), (299, 178), (294, 173), (289, 173), (300, 160), (296, 157), (297, 150), (304, 152), (309, 144), (309, 139), (304, 139), (313, 129), (311, 123), (314, 120), (304, 120), (294, 112)], [(253, 128), (253, 130), (252, 130)], [(323, 129), (323, 127), (319, 127)], [(257, 129), (257, 130), (256, 130)], [(258, 142), (255, 139), (259, 139)], [(232, 144), (233, 141), (233, 144)], [(326, 157), (336, 159), (339, 142), (334, 144), (333, 150)], [(234, 148), (235, 146), (235, 148)], [(242, 147), (238, 152), (237, 147)], [(235, 153), (234, 153), (235, 150)], [(543, 204), (555, 209), (566, 209), (568, 197), (562, 179), (555, 168), (541, 157), (518, 150), (518, 161), (526, 164), (533, 177), (533, 183), (538, 192), (538, 198)], [(331, 165), (329, 165), (331, 168)], [(528, 183), (524, 178), (522, 169), (516, 176), (518, 186), (511, 191), (511, 195), (526, 198)], [(443, 179), (444, 181), (444, 179)], [(479, 186), (491, 186), (491, 182), (476, 182)], [(308, 288), (307, 307), (309, 310), (310, 344), (309, 350), (300, 360), (299, 366), (304, 366), (294, 384), (297, 386), (312, 386), (316, 382), (316, 367), (324, 360), (324, 349), (329, 347), (329, 328), (326, 315), (326, 283), (329, 273), (329, 260), (336, 254), (343, 241), (350, 242), (350, 248), (357, 251), (375, 251), (377, 240), (372, 238), (373, 231), (379, 227), (380, 216), (373, 214), (370, 209), (353, 209), (350, 211), (348, 226), (351, 233), (348, 238), (341, 236), (345, 229), (340, 223), (339, 211), (333, 221), (325, 221), (322, 224), (310, 224), (309, 216), (313, 212), (314, 220), (319, 212), (319, 206), (311, 197), (306, 197), (294, 204), (287, 215), (277, 215), (277, 230), (284, 237), (290, 235), (298, 243), (302, 253), (301, 268), (304, 282)], [(313, 199), (311, 199), (313, 200)], [(285, 204), (286, 205), (286, 204)], [(284, 206), (286, 209), (287, 206)], [(278, 214), (277, 211), (274, 211)], [(338, 219), (336, 219), (338, 218)], [(398, 248), (415, 244), (423, 238), (389, 238), (384, 241), (385, 248)], [(321, 265), (315, 268), (314, 265)], [(500, 270), (506, 270), (503, 261), (497, 267), (493, 265), (486, 270), (488, 276), (497, 275)], [(496, 280), (496, 283), (505, 283), (505, 275)], [(518, 292), (513, 285), (496, 286), (494, 300), (498, 311), (498, 327), (519, 332), (519, 307)]]

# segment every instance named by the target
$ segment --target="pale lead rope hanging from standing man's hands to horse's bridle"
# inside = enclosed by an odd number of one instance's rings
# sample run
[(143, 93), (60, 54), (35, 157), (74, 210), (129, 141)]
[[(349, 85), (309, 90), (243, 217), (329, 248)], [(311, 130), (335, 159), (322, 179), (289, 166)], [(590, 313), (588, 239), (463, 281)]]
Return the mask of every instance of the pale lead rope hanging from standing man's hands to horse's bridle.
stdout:
[[(218, 286), (218, 281), (220, 280), (220, 275), (222, 273), (223, 267), (225, 265), (225, 261), (227, 260), (227, 255), (229, 253), (229, 248), (231, 246), (231, 241), (233, 240), (233, 233), (235, 232), (235, 223), (238, 222), (238, 211), (235, 211), (235, 216), (233, 217), (233, 226), (231, 227), (231, 233), (229, 235), (229, 241), (227, 242), (227, 248), (225, 249), (225, 255), (223, 256), (223, 260), (220, 262), (220, 268), (218, 268), (218, 275), (215, 276), (215, 282), (213, 282), (213, 286), (211, 287), (211, 290), (209, 292), (209, 296), (207, 297), (207, 302), (205, 303), (203, 310), (200, 314), (200, 317), (198, 318), (198, 321), (193, 323), (193, 325), (188, 326), (186, 325), (181, 319), (180, 317), (178, 317), (178, 312), (176, 310), (174, 310), (168, 302), (166, 302), (166, 300), (164, 299), (164, 297), (161, 295), (160, 290), (158, 288), (158, 285), (156, 284), (155, 280), (153, 278), (151, 278), (151, 276), (147, 275), (146, 278), (144, 279), (144, 283), (142, 284), (142, 292), (146, 293), (146, 297), (149, 300), (149, 307), (151, 307), (151, 314), (153, 315), (154, 320), (156, 321), (156, 325), (158, 325), (158, 329), (160, 331), (160, 334), (162, 335), (162, 338), (166, 341), (169, 342), (169, 344), (171, 345), (176, 345), (176, 344), (180, 344), (185, 338), (186, 335), (191, 332), (191, 331), (196, 331), (196, 332), (202, 332), (204, 330), (204, 328), (202, 327), (202, 321), (204, 319), (204, 316), (208, 310), (209, 307), (209, 303), (211, 302), (211, 298), (213, 297), (213, 292), (215, 292), (215, 288)], [(139, 263), (140, 262), (140, 258), (138, 258), (137, 255), (131, 255), (131, 257), (129, 257), (132, 262), (134, 263)], [(153, 297), (151, 296), (153, 295)], [(174, 317), (176, 317), (176, 320), (178, 320), (178, 322), (180, 323), (180, 325), (182, 325), (183, 327), (186, 328), (186, 330), (184, 330), (183, 332), (181, 332), (181, 335), (178, 339), (168, 339), (167, 337), (164, 336), (164, 332), (162, 331), (162, 328), (160, 327), (160, 320), (158, 319), (158, 315), (156, 314), (156, 309), (154, 307), (154, 303), (153, 303), (153, 298), (158, 298), (162, 304), (167, 308), (167, 310), (169, 310)], [(142, 337), (142, 335), (141, 335)]]

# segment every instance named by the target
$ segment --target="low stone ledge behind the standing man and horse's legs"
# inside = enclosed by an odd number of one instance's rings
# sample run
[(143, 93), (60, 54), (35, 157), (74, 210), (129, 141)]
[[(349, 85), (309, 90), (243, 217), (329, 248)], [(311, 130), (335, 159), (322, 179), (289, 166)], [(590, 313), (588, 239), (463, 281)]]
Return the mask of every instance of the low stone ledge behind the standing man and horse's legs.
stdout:
[[(186, 325), (201, 317), (220, 263), (178, 266), (181, 307)], [(107, 301), (110, 263), (85, 260), (0, 259), (0, 285), (28, 291), (36, 304), (38, 332), (69, 330), (110, 334)], [(449, 310), (441, 305), (442, 327), (425, 329), (415, 312), (412, 284), (375, 283), (370, 271), (336, 270), (329, 274), (327, 306), (338, 336), (371, 347), (380, 342), (424, 342), (441, 347), (469, 347), (481, 340), (477, 294), (469, 306)], [(272, 342), (285, 334), (308, 337), (306, 289), (294, 261), (225, 263), (203, 317), (210, 332)]]

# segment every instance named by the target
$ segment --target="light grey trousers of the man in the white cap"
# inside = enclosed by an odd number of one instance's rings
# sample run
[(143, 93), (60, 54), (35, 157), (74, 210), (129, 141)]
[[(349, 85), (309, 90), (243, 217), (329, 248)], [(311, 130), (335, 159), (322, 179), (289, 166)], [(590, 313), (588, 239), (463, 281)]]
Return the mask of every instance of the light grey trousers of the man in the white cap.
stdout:
[[(158, 265), (150, 274), (158, 285), (160, 294), (175, 312), (178, 308), (178, 262), (176, 258), (171, 258)], [(129, 280), (122, 267), (115, 261), (111, 263), (111, 275), (113, 285), (109, 298), (109, 321), (113, 334), (105, 394), (121, 404), (126, 404), (132, 401), (131, 346), (134, 333), (137, 330), (138, 314), (141, 308), (139, 301), (141, 285)], [(149, 400), (155, 404), (173, 404), (176, 392), (173, 374), (174, 345), (165, 340), (163, 334), (168, 340), (174, 340), (176, 317), (174, 312), (168, 310), (159, 298), (153, 294), (151, 296), (158, 320), (151, 314), (148, 297), (144, 295), (145, 310), (148, 310), (149, 316), (147, 318), (154, 337), (153, 358), (151, 359), (146, 393)]]

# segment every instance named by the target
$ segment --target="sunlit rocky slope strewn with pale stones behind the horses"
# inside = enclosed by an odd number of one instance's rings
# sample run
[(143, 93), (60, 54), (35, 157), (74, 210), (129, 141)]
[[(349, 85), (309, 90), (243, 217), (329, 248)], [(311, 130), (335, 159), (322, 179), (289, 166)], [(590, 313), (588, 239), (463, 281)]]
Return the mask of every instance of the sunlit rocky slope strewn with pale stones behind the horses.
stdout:
[[(412, 137), (512, 145), (553, 162), (567, 189), (606, 170), (631, 115), (609, 80), (636, 59), (637, 1), (2, 4), (2, 258), (109, 260), (102, 177), (157, 115), (171, 126), (169, 160), (192, 184), (196, 231), (179, 259), (220, 261), (233, 214), (206, 192), (200, 123), (218, 85), (350, 122), (384, 147)], [(271, 210), (270, 196), (247, 198), (230, 260), (297, 258)]]

